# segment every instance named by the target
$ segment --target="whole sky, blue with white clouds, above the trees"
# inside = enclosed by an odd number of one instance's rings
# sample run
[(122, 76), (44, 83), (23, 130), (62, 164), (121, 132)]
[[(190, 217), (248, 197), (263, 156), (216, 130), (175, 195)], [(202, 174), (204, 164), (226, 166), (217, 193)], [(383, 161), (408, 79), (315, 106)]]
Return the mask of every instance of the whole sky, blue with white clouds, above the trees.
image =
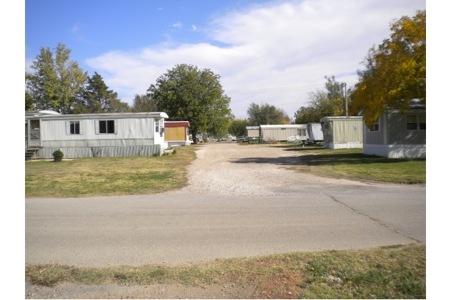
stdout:
[(390, 21), (425, 8), (425, 0), (26, 0), (25, 63), (41, 46), (64, 43), (71, 60), (128, 103), (189, 63), (221, 76), (237, 118), (252, 102), (293, 117), (324, 76), (354, 84)]

